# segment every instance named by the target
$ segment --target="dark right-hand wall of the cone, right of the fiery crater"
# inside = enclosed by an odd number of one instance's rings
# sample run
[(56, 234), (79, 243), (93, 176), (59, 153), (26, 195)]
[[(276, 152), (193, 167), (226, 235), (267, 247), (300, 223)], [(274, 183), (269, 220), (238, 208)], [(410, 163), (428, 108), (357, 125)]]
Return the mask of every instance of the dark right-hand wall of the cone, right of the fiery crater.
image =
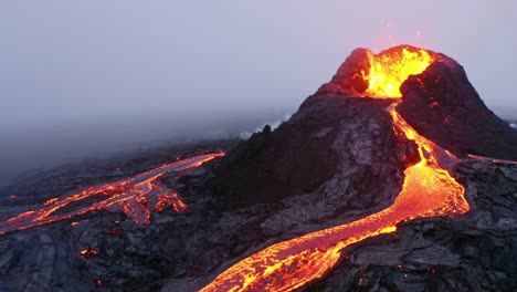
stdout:
[(517, 131), (479, 98), (463, 67), (441, 54), (401, 86), (397, 111), (421, 135), (458, 156), (517, 159)]

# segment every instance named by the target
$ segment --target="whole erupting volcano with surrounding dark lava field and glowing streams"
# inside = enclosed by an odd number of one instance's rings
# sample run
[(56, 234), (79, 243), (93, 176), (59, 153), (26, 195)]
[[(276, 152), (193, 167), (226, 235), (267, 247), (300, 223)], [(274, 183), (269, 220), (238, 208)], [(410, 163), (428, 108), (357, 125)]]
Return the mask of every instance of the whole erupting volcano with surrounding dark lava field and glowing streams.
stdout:
[(515, 145), (453, 59), (357, 49), (274, 131), (7, 208), (0, 284), (514, 291)]

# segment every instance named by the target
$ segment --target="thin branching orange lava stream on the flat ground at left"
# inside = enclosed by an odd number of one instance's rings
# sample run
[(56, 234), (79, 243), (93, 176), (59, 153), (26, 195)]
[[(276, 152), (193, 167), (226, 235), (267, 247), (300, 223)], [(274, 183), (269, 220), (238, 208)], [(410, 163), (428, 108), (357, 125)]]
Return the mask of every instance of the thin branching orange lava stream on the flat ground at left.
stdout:
[[(0, 222), (0, 234), (68, 219), (93, 210), (124, 211), (137, 223), (149, 223), (151, 210), (159, 212), (167, 206), (171, 206), (176, 211), (187, 209), (187, 205), (176, 191), (159, 184), (161, 176), (170, 171), (198, 167), (221, 156), (224, 156), (224, 153), (194, 156), (162, 165), (131, 178), (89, 187), (64, 198), (50, 199), (41, 209), (27, 211)], [(87, 201), (88, 199), (94, 201)], [(87, 206), (66, 210), (71, 209), (71, 204), (78, 202)]]

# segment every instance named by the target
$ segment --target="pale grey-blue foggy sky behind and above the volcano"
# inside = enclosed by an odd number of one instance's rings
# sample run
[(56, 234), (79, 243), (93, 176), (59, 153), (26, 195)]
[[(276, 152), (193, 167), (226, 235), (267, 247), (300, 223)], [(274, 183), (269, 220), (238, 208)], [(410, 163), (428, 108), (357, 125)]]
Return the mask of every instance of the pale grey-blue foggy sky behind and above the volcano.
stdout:
[(456, 59), (517, 116), (515, 1), (2, 1), (0, 185), (296, 111), (358, 46)]

